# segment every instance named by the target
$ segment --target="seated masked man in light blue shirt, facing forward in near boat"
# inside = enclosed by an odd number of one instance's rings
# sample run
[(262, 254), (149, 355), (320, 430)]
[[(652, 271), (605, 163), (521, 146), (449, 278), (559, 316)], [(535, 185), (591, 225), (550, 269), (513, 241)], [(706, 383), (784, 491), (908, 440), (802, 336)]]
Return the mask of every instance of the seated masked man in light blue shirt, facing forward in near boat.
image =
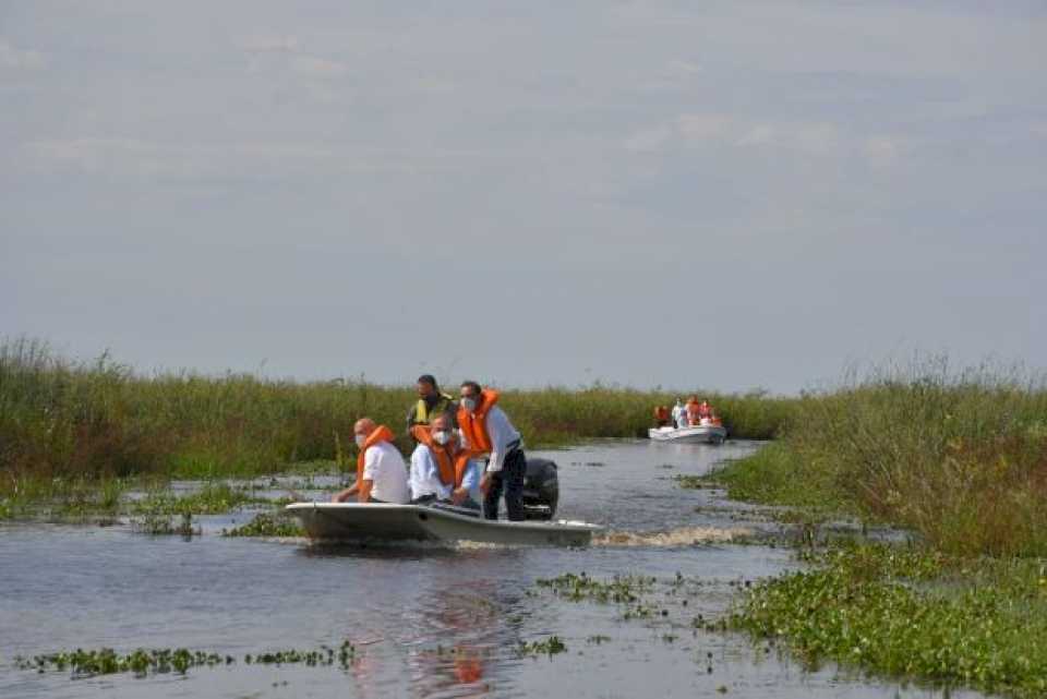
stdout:
[(411, 503), (447, 502), (480, 509), (480, 463), (461, 449), (450, 418), (436, 415), (412, 430), (418, 446), (411, 454)]

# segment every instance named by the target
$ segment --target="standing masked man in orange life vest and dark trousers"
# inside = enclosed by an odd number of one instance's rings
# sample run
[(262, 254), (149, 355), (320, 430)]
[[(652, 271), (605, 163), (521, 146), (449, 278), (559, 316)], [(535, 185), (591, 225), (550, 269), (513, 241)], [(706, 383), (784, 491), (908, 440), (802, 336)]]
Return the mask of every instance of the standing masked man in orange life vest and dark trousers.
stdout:
[(520, 433), (497, 402), (498, 391), (483, 388), (474, 381), (461, 383), (458, 408), (461, 446), (472, 456), (490, 455), (488, 468), (480, 480), (484, 518), (498, 518), (498, 501), (504, 491), (509, 520), (522, 521), (527, 458), (524, 456)]

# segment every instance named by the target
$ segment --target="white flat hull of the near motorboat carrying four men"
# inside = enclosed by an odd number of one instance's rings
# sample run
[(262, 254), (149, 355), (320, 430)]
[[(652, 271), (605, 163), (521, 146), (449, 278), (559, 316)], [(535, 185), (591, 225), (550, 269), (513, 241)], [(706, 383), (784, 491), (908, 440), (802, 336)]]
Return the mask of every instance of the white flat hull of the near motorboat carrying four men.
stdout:
[[(476, 510), (388, 503), (291, 503), (287, 511), (311, 539), (360, 544), (477, 542), (524, 546), (585, 546), (599, 525), (575, 521), (486, 520)], [(473, 514), (468, 514), (468, 513)]]

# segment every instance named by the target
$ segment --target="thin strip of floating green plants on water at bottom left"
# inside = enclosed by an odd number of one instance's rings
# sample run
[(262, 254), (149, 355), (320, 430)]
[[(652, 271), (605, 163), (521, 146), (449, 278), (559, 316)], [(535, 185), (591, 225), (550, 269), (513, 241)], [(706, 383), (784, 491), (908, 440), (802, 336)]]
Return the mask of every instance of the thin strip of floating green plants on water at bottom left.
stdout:
[[(241, 662), (245, 665), (306, 665), (310, 667), (337, 664), (348, 668), (356, 659), (356, 646), (345, 640), (338, 648), (321, 646), (316, 650), (308, 651), (265, 651), (253, 655), (249, 653), (241, 659)], [(184, 675), (193, 667), (216, 667), (232, 665), (236, 662), (237, 659), (232, 655), (185, 648), (139, 648), (127, 654), (111, 648), (98, 650), (77, 648), (74, 651), (34, 655), (31, 659), (17, 656), (14, 659), (14, 666), (19, 670), (35, 670), (38, 673), (69, 671), (75, 679), (118, 673), (133, 673), (135, 677), (145, 677), (149, 673), (171, 672)]]

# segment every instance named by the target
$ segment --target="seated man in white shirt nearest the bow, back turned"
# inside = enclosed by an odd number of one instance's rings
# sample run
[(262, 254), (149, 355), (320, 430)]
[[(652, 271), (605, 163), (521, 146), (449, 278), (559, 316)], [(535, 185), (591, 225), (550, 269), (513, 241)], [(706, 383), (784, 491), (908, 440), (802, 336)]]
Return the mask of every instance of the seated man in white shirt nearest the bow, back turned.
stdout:
[(407, 503), (407, 465), (393, 444), (393, 431), (371, 418), (361, 418), (352, 432), (360, 448), (357, 482), (335, 493), (332, 502), (345, 503), (356, 496), (360, 503)]

